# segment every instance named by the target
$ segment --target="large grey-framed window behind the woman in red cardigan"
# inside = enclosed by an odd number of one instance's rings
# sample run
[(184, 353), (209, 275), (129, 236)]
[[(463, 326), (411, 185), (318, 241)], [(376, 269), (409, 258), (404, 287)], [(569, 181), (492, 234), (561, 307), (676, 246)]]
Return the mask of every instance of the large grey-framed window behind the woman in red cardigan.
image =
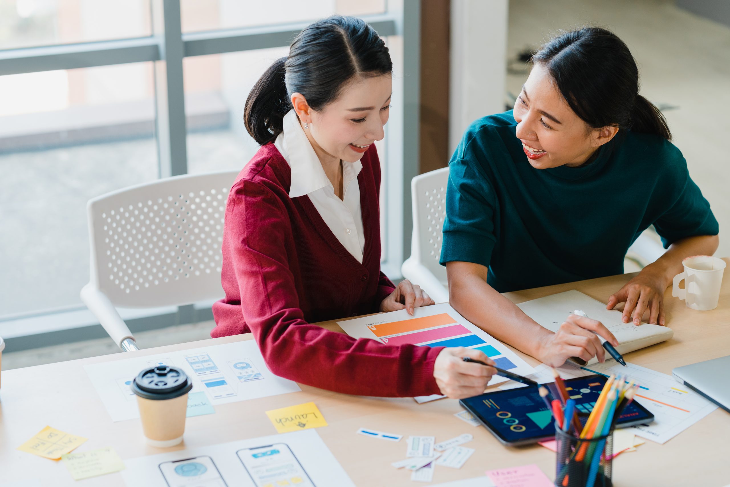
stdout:
[[(405, 20), (408, 8), (415, 22)], [(404, 63), (418, 58), (417, 6), (0, 0), (0, 331), (31, 315), (50, 323), (84, 310), (88, 199), (158, 177), (242, 168), (257, 149), (242, 123), (251, 86), (301, 28), (333, 13), (364, 18), (393, 54), (391, 121), (377, 145), (383, 265), (392, 275), (410, 240), (404, 166), (418, 157), (418, 140), (404, 137), (404, 93), (418, 93), (418, 64)]]

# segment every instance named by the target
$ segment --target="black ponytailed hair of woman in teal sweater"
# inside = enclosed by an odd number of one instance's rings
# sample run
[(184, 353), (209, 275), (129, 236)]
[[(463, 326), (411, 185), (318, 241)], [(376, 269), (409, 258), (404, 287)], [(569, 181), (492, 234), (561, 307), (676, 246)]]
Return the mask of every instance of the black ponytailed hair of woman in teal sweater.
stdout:
[(578, 117), (593, 129), (616, 126), (672, 140), (659, 109), (639, 95), (639, 69), (629, 47), (611, 31), (561, 32), (532, 55), (545, 66)]

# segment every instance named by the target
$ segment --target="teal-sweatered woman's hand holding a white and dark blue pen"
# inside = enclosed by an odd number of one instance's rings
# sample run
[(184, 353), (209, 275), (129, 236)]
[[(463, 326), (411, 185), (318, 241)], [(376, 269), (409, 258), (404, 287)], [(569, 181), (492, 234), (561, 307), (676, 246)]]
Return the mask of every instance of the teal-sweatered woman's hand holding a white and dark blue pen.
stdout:
[(560, 367), (568, 358), (579, 357), (585, 361), (594, 356), (600, 362), (605, 360), (601, 340), (593, 333), (604, 337), (611, 345), (618, 347), (618, 340), (600, 321), (584, 316), (570, 315), (556, 333), (542, 342), (537, 357), (543, 364)]

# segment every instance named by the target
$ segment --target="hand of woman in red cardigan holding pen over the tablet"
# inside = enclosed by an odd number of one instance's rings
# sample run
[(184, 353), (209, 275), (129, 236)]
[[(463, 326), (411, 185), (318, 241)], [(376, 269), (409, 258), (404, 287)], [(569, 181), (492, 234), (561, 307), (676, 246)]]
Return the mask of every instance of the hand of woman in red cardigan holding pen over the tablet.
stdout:
[(465, 362), (464, 357), (494, 365), (494, 361), (481, 350), (464, 347), (441, 350), (434, 363), (434, 378), (441, 394), (451, 399), (464, 399), (483, 394), (487, 383), (496, 374), (496, 370), (492, 367)]

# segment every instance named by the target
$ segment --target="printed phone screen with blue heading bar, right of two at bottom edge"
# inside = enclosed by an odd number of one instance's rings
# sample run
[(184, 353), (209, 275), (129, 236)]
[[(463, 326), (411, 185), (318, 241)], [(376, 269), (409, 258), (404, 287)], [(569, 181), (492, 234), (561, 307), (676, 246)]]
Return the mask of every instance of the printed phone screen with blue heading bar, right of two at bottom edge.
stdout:
[(256, 487), (315, 487), (286, 443), (243, 448), (236, 453)]

